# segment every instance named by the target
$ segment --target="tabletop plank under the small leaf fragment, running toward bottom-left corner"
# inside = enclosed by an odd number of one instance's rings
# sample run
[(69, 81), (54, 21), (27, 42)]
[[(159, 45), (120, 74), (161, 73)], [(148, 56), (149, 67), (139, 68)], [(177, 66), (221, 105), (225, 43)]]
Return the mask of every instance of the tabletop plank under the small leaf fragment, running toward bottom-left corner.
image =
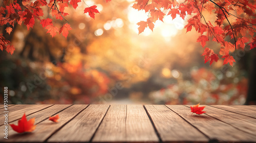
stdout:
[[(54, 134), (58, 129), (60, 129), (62, 126), (67, 124), (70, 120), (72, 120), (73, 117), (75, 117), (80, 111), (82, 111), (88, 105), (73, 105), (73, 106), (68, 106), (68, 108), (67, 108), (67, 105), (54, 105), (54, 106), (49, 107), (46, 110), (50, 111), (50, 108), (52, 108), (51, 110), (56, 109), (55, 114), (58, 114), (60, 116), (58, 123), (54, 123), (49, 120), (42, 121), (36, 125), (36, 129), (32, 133), (27, 133), (27, 134), (18, 134), (11, 129), (9, 130), (8, 139), (4, 139), (4, 136), (1, 136), (0, 142), (44, 142), (52, 134)], [(59, 112), (60, 108), (64, 110)], [(38, 120), (38, 118), (36, 118), (36, 120)]]

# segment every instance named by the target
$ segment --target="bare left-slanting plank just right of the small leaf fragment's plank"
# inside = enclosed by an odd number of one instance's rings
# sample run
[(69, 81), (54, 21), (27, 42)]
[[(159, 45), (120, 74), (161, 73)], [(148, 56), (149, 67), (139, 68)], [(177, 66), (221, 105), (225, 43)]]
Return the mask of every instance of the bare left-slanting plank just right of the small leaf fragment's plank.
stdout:
[(88, 142), (100, 125), (110, 105), (89, 105), (72, 121), (53, 134), (49, 142)]

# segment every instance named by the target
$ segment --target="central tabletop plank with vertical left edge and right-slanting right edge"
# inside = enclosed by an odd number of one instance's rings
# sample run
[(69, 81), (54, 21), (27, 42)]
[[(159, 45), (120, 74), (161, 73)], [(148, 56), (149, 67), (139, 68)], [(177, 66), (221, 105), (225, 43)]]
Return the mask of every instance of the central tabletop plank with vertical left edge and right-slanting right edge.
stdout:
[(143, 105), (127, 105), (126, 141), (159, 141)]

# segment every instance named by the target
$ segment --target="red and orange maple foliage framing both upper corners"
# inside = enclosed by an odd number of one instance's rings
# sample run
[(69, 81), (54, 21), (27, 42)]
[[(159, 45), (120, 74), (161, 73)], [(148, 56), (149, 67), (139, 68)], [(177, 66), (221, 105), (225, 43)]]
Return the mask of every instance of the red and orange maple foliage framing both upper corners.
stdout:
[[(110, 2), (111, 0), (106, 0)], [(36, 0), (36, 1), (4, 1), (0, 9), (1, 22), (0, 26), (7, 25), (5, 29), (7, 33), (11, 33), (14, 23), (33, 28), (35, 20), (39, 20), (40, 24), (47, 33), (53, 37), (57, 33), (67, 38), (69, 31), (72, 29), (65, 16), (69, 13), (65, 9), (70, 5), (74, 9), (78, 7), (78, 3), (85, 3), (81, 0)], [(88, 5), (87, 5), (88, 6)], [(52, 18), (44, 17), (42, 8), (49, 8)], [(212, 0), (136, 0), (133, 5), (134, 9), (143, 10), (147, 13), (146, 21), (137, 23), (139, 26), (139, 34), (145, 28), (152, 31), (157, 20), (164, 21), (166, 15), (172, 16), (173, 19), (179, 15), (182, 19), (187, 20), (184, 26), (186, 32), (195, 30), (199, 33), (197, 42), (205, 48), (202, 56), (205, 62), (210, 64), (217, 62), (219, 58), (223, 58), (223, 64), (236, 62), (232, 56), (233, 52), (243, 50), (245, 45), (250, 45), (250, 49), (256, 47), (256, 37), (254, 35), (256, 28), (256, 6), (254, 1), (249, 0), (232, 0), (232, 1), (212, 1)], [(84, 13), (88, 13), (90, 17), (95, 18), (95, 14), (99, 13), (97, 6), (88, 6), (84, 9)], [(211, 15), (209, 19), (206, 14)], [(52, 19), (65, 21), (61, 27), (54, 25)], [(211, 49), (207, 44), (209, 41), (215, 41), (219, 44), (219, 49)], [(6, 50), (13, 54), (15, 48), (9, 40), (6, 40), (3, 34), (0, 34), (0, 49)]]

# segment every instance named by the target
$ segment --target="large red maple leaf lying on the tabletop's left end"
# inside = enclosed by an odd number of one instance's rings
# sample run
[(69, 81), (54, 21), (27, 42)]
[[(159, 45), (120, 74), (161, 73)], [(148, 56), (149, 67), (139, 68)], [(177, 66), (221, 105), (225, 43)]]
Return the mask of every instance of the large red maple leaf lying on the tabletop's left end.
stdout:
[(35, 123), (35, 118), (31, 118), (29, 121), (27, 121), (27, 117), (24, 113), (22, 116), (21, 120), (18, 120), (18, 125), (10, 124), (12, 129), (18, 133), (23, 133), (23, 132), (32, 132), (35, 130), (36, 125)]

